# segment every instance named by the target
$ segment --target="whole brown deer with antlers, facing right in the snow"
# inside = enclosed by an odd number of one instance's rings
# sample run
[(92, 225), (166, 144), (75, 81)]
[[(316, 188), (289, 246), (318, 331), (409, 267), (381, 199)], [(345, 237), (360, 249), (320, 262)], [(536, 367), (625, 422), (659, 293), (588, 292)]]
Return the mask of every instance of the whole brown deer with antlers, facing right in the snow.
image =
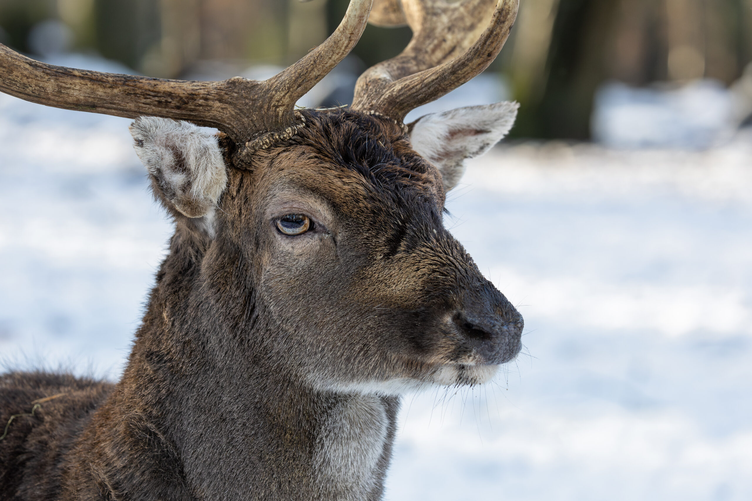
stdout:
[[(404, 123), (490, 65), (517, 7), (350, 0), (263, 81), (83, 71), (0, 45), (0, 91), (134, 119), (174, 221), (118, 382), (0, 376), (0, 499), (382, 499), (402, 395), (482, 385), (520, 352), (522, 316), (443, 222), (465, 158), (517, 104)], [(349, 106), (296, 109), (368, 20), (413, 38)]]

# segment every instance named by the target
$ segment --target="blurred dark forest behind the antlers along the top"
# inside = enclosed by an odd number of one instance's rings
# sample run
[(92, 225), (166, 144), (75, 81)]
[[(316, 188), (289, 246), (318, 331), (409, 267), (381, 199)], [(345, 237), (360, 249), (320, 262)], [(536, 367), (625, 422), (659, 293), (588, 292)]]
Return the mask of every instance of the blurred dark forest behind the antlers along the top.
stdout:
[[(299, 59), (346, 8), (347, 0), (0, 0), (0, 41), (32, 55), (99, 53), (154, 77), (224, 78)], [(410, 36), (407, 27), (368, 26), (347, 60), (347, 85)], [(587, 140), (605, 84), (752, 88), (740, 80), (750, 61), (752, 0), (523, 0), (489, 71), (522, 104), (514, 136)], [(345, 90), (335, 101), (346, 99)]]

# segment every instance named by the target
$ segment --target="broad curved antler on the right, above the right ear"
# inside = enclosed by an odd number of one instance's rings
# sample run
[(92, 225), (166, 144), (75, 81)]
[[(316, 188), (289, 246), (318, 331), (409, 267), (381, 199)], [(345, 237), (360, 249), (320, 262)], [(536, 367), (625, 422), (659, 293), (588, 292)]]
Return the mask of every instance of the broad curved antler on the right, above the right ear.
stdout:
[[(399, 56), (372, 66), (359, 77), (352, 107), (399, 121), (414, 108), (440, 98), (488, 68), (504, 47), (519, 6), (519, 0), (499, 0), (498, 5), (496, 0), (374, 3), (371, 23), (407, 23), (413, 38)], [(481, 34), (482, 21), (494, 5), (491, 22)]]

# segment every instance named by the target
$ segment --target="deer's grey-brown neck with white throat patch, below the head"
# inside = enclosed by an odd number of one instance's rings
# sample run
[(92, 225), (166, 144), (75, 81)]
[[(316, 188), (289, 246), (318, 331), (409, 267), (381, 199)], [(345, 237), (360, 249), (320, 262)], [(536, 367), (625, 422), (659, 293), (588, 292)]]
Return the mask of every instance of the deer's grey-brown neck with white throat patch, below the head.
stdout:
[(112, 417), (138, 406), (199, 498), (380, 499), (399, 400), (293, 376), (265, 348), (280, 332), (238, 267), (202, 270), (185, 252), (158, 273)]

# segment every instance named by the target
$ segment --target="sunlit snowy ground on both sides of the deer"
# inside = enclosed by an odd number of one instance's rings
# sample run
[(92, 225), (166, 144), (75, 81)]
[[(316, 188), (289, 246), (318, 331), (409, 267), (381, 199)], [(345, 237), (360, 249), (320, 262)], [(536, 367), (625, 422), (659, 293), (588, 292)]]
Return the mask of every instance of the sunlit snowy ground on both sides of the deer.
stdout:
[[(0, 351), (116, 378), (170, 225), (129, 121), (0, 95)], [(387, 499), (752, 499), (752, 137), (504, 146), (446, 224), (526, 319), (475, 391), (407, 397)]]

